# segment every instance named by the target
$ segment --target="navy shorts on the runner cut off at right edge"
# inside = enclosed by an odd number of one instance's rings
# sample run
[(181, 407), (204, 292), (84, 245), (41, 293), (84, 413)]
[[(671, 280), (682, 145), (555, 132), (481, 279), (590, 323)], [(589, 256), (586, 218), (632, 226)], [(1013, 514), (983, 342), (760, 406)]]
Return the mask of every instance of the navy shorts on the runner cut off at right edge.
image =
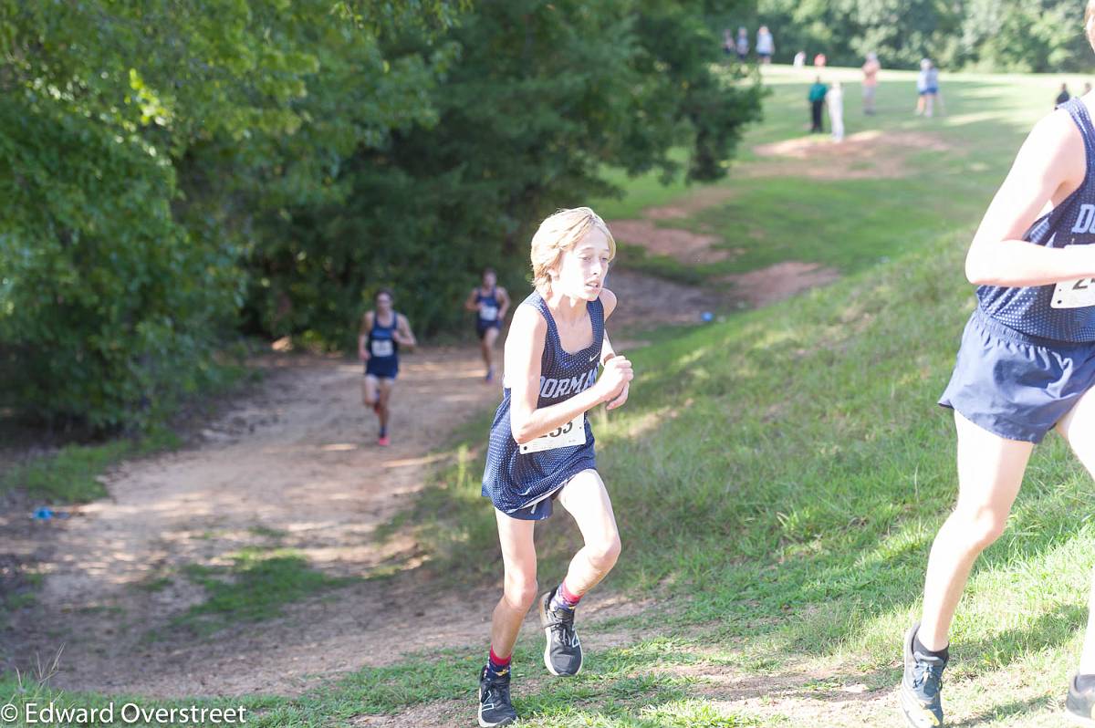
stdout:
[(1095, 385), (1095, 342), (1030, 336), (973, 311), (940, 404), (1008, 440), (1041, 442)]

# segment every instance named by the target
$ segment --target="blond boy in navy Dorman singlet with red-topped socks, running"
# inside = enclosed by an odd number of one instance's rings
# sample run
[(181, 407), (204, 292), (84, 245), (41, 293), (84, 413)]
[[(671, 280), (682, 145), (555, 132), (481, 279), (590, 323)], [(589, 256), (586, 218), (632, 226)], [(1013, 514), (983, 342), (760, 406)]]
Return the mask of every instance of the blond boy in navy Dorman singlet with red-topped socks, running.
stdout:
[[(612, 502), (596, 470), (587, 411), (627, 401), (631, 362), (616, 356), (604, 320), (616, 299), (603, 288), (615, 242), (588, 207), (560, 210), (532, 238), (537, 290), (514, 313), (506, 337), (502, 405), (491, 426), (483, 495), (498, 523), (505, 587), (494, 610), (491, 654), (480, 673), (480, 726), (517, 719), (509, 698), (509, 660), (537, 599), (535, 522), (553, 501), (569, 511), (585, 545), (563, 581), (539, 600), (552, 674), (581, 669), (574, 631), (578, 600), (615, 565), (620, 554)], [(604, 370), (597, 377), (598, 365)]]

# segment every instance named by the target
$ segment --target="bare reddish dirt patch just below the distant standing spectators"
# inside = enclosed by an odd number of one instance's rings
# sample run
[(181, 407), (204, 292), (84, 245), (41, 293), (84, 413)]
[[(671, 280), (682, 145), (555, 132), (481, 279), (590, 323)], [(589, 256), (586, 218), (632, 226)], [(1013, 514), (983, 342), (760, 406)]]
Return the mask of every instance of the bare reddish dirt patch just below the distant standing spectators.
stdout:
[(908, 174), (906, 158), (913, 152), (949, 151), (950, 146), (931, 134), (878, 129), (858, 131), (841, 142), (828, 136), (796, 137), (754, 147), (771, 161), (742, 165), (747, 176), (795, 176), (810, 180), (890, 180)]

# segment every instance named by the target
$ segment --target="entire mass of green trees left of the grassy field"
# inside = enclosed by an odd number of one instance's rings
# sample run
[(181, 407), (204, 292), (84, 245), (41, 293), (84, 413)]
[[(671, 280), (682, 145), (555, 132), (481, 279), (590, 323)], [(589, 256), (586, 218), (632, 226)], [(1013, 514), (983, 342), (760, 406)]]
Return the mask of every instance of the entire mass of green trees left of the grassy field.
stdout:
[(607, 164), (725, 174), (760, 91), (712, 5), (0, 0), (3, 404), (140, 427), (241, 330), (454, 323)]

